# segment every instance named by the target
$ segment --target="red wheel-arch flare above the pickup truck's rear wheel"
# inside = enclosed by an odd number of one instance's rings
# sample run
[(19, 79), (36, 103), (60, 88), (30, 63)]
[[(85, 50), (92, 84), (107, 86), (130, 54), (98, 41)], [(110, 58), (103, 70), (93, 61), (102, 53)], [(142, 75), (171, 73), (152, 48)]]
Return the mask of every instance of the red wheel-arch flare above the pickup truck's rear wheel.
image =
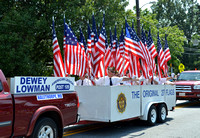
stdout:
[(30, 125), (29, 125), (29, 128), (28, 128), (27, 136), (30, 136), (32, 134), (33, 129), (34, 129), (35, 124), (36, 124), (36, 121), (38, 120), (40, 115), (42, 115), (45, 112), (49, 112), (49, 111), (57, 112), (59, 114), (59, 116), (61, 118), (61, 123), (62, 123), (62, 126), (63, 126), (64, 121), (63, 121), (63, 116), (62, 116), (61, 111), (56, 106), (43, 106), (43, 107), (38, 108), (35, 111), (35, 113), (33, 114), (33, 117), (31, 119), (31, 122), (30, 122)]

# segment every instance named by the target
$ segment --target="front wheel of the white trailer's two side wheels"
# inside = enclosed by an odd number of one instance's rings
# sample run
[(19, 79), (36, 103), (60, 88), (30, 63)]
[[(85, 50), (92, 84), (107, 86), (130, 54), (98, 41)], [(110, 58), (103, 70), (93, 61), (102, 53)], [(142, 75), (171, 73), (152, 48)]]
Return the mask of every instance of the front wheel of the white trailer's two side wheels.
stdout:
[(156, 124), (156, 120), (157, 120), (156, 107), (154, 105), (152, 105), (149, 109), (147, 123), (148, 123), (148, 125), (153, 126)]

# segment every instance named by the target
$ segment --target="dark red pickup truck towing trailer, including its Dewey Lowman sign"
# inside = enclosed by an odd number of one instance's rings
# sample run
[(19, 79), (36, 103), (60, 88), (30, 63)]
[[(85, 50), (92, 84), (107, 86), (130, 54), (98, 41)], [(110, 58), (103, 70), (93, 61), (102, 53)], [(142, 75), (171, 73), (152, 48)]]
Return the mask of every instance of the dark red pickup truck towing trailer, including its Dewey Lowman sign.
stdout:
[(1, 138), (57, 138), (62, 137), (64, 126), (76, 123), (79, 101), (73, 81), (59, 77), (16, 77), (13, 82), (15, 86), (11, 83), (13, 88), (9, 88), (0, 70)]

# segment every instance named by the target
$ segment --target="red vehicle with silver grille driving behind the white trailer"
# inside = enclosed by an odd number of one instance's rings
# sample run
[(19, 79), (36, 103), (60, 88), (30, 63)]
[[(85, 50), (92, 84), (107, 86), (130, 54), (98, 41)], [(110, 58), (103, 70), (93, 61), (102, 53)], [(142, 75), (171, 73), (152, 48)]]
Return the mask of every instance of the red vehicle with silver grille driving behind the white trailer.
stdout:
[(183, 71), (176, 84), (176, 99), (197, 100), (200, 99), (200, 71)]

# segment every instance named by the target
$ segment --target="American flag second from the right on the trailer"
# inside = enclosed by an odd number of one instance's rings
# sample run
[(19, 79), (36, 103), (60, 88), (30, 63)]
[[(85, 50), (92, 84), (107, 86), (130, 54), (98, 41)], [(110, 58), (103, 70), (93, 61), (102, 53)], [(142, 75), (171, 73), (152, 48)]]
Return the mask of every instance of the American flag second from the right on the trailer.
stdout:
[(165, 65), (165, 55), (162, 49), (162, 45), (160, 42), (160, 37), (159, 37), (159, 33), (158, 33), (158, 40), (157, 40), (157, 52), (158, 52), (158, 76), (159, 78), (162, 78), (162, 70), (164, 69), (164, 65)]

